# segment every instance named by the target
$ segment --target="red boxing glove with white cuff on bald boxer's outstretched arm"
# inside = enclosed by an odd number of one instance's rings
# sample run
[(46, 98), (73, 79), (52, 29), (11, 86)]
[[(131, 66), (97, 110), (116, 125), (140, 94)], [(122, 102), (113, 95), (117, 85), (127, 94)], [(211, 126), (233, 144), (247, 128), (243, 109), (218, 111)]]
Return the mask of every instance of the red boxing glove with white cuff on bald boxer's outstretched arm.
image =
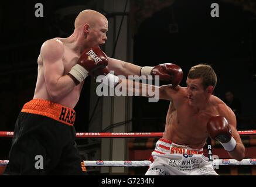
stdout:
[(162, 81), (170, 81), (172, 87), (175, 88), (180, 84), (180, 81), (182, 81), (183, 71), (176, 64), (165, 63), (156, 65), (155, 67), (142, 67), (141, 75), (159, 75), (159, 79)]

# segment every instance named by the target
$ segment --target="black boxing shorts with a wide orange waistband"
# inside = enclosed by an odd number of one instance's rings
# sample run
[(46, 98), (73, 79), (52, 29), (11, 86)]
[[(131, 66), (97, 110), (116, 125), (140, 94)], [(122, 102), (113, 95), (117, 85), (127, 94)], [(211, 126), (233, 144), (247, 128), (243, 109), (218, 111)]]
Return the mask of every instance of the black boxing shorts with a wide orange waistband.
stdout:
[(4, 175), (84, 175), (75, 143), (76, 112), (57, 103), (33, 99), (16, 120)]

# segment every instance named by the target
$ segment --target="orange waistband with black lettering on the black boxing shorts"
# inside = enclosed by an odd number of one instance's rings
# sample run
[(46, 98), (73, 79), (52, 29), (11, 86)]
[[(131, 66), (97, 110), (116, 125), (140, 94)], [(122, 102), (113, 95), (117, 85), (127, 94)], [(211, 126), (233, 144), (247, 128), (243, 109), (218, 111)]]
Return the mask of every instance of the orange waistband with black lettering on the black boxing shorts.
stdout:
[(74, 120), (76, 119), (76, 112), (73, 109), (42, 99), (32, 99), (28, 103), (25, 103), (21, 112), (47, 116), (69, 126), (73, 126)]

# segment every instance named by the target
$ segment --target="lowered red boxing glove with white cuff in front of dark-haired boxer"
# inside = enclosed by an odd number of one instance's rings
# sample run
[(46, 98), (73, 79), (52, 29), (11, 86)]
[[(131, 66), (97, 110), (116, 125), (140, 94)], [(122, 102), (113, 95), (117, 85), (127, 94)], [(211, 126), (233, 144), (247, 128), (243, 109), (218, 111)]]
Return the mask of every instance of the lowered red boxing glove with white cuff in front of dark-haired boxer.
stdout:
[(233, 151), (235, 149), (237, 143), (232, 137), (230, 125), (225, 117), (210, 117), (207, 123), (207, 131), (212, 139), (220, 141), (225, 150)]

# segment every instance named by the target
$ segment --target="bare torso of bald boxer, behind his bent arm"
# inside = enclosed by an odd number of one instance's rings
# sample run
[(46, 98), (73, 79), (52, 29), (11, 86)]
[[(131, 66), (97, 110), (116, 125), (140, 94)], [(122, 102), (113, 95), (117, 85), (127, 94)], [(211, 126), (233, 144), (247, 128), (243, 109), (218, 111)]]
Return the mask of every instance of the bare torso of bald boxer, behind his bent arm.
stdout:
[[(64, 70), (63, 70), (63, 75), (67, 75), (68, 72), (71, 70), (71, 67), (76, 65), (77, 60), (79, 58), (78, 54), (75, 53), (73, 50), (71, 50), (68, 46), (69, 43), (67, 43), (66, 39), (60, 39), (57, 38), (55, 40), (60, 40), (63, 43), (64, 46), (64, 54), (63, 54), (63, 65), (64, 65)], [(33, 99), (45, 99), (47, 101), (53, 101), (53, 99), (50, 97), (48, 91), (47, 91), (47, 86), (45, 82), (45, 77), (44, 77), (44, 72), (43, 72), (43, 59), (39, 55), (37, 59), (37, 82), (36, 82), (36, 89), (35, 89), (35, 95)], [(66, 96), (60, 99), (56, 99), (56, 103), (59, 103), (61, 105), (67, 106), (69, 108), (74, 108), (76, 106), (78, 99), (80, 97), (80, 92), (83, 87), (83, 83), (79, 84), (74, 87), (74, 89), (69, 92)]]

